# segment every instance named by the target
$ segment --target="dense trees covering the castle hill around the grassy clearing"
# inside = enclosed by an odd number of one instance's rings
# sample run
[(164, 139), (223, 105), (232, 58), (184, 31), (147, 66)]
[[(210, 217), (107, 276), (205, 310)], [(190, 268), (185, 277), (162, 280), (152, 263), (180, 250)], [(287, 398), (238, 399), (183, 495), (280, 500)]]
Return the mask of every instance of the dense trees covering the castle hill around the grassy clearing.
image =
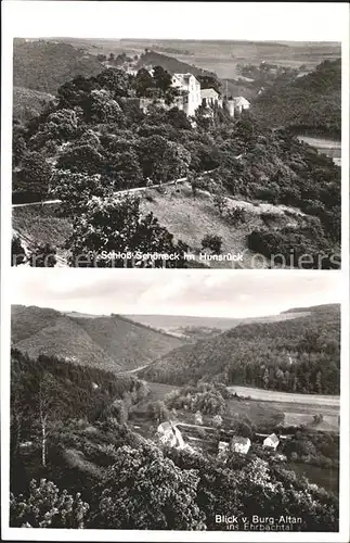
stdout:
[[(144, 97), (168, 108), (151, 103), (144, 113), (139, 106)], [(99, 254), (139, 249), (179, 253), (167, 266), (185, 267), (189, 248), (181, 239), (153, 213), (142, 214), (135, 197), (112, 194), (189, 176), (194, 198), (204, 189), (215, 202), (231, 197), (301, 210), (284, 226), (274, 224), (272, 214), (252, 228), (248, 213), (237, 216), (219, 202), (232, 228), (246, 224), (255, 253), (280, 255), (291, 267), (303, 254), (311, 258), (304, 267), (339, 267), (340, 168), (288, 131), (264, 128), (254, 114), (232, 119), (217, 108), (208, 117), (199, 108), (190, 122), (171, 106), (173, 97), (170, 74), (160, 66), (153, 76), (144, 68), (135, 76), (108, 68), (65, 83), (40, 115), (14, 124), (13, 201), (62, 200), (59, 213), (73, 226), (65, 245), (72, 266), (91, 265), (88, 257), (77, 262), (77, 255), (89, 254), (96, 266), (121, 266)], [(200, 178), (205, 171), (215, 171), (211, 181)]]

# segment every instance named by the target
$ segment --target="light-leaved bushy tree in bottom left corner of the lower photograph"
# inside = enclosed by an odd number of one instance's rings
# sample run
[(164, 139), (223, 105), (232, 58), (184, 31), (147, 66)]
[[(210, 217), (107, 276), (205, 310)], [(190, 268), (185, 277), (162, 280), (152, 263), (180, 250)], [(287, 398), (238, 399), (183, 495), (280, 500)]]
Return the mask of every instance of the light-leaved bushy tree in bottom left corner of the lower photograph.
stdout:
[(60, 492), (52, 481), (33, 480), (27, 496), (10, 496), (10, 526), (17, 528), (85, 528), (89, 504), (80, 494)]

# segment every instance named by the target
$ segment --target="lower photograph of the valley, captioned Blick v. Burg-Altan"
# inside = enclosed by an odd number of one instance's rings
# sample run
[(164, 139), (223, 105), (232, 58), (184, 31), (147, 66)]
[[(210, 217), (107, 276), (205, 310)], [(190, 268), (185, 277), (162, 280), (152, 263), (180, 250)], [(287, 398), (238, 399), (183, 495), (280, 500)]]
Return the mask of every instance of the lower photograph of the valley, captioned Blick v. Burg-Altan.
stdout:
[(338, 272), (13, 274), (10, 527), (339, 530)]

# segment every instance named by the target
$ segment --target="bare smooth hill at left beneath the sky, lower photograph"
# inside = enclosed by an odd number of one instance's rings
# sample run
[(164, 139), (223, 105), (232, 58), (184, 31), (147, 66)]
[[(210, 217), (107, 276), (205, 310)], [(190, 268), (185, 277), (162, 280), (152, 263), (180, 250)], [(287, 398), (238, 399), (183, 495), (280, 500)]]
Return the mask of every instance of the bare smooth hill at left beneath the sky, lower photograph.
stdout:
[(183, 341), (116, 315), (68, 316), (41, 307), (12, 307), (12, 345), (102, 369), (131, 370), (180, 346)]

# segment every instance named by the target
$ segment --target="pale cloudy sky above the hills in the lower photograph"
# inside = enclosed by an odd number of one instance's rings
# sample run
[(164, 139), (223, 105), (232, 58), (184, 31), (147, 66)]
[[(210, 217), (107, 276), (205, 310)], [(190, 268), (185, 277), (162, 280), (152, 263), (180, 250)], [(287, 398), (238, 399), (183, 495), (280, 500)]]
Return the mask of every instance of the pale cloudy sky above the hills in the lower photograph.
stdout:
[(274, 315), (340, 303), (339, 272), (14, 268), (11, 303), (88, 314)]

